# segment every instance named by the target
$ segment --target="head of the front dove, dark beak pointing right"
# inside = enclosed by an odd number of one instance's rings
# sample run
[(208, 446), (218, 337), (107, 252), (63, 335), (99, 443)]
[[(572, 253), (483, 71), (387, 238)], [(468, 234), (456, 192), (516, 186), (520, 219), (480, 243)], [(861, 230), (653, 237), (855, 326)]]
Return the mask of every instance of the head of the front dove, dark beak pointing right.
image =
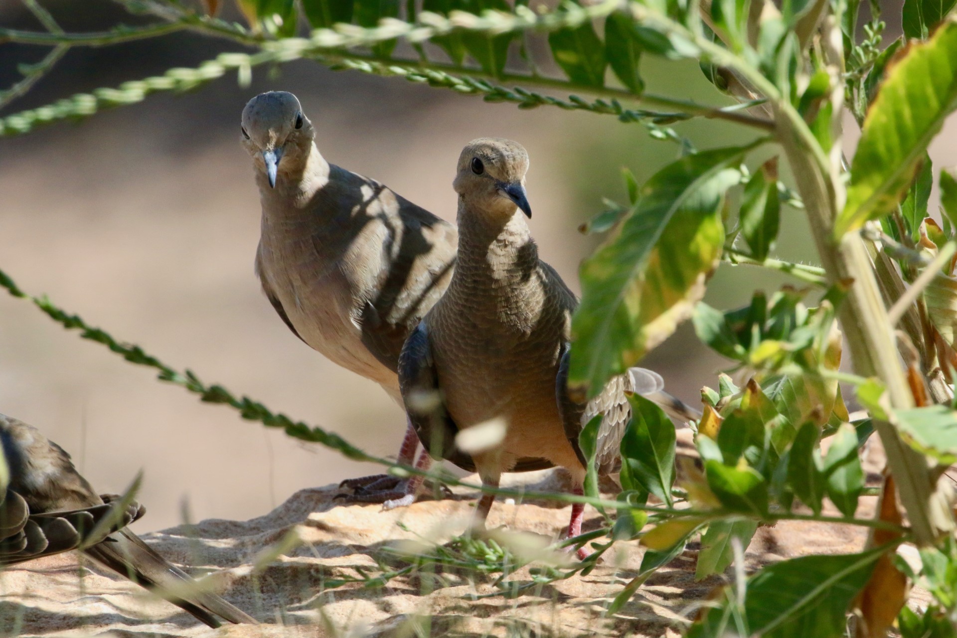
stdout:
[(479, 138), (462, 149), (453, 187), (469, 209), (511, 217), (518, 207), (531, 217), (524, 186), (527, 171), (528, 153), (522, 144)]

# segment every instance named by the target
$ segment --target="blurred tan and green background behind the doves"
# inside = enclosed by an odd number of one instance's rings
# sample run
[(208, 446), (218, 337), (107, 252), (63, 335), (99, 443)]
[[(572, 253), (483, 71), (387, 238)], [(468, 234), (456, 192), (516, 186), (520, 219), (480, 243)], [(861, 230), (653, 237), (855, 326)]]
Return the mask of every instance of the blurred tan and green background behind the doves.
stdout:
[[(106, 0), (49, 1), (69, 31), (142, 21)], [(534, 3), (533, 3), (534, 4)], [(226, 3), (226, 16), (234, 7)], [(896, 37), (900, 6), (888, 5), (884, 42)], [(40, 29), (15, 0), (0, 0), (0, 25)], [(0, 115), (73, 93), (195, 66), (229, 42), (196, 34), (109, 48), (75, 48), (59, 67)], [(0, 87), (18, 64), (45, 48), (0, 45)], [(399, 54), (402, 50), (399, 49)], [(642, 60), (648, 91), (723, 103), (697, 64)], [(416, 204), (455, 219), (451, 183), (461, 147), (480, 136), (523, 143), (532, 231), (545, 260), (579, 290), (577, 266), (597, 239), (576, 229), (626, 200), (620, 168), (639, 181), (675, 159), (679, 147), (640, 124), (556, 108), (523, 111), (487, 104), (400, 78), (333, 73), (310, 61), (255, 70), (253, 83), (223, 77), (194, 93), (156, 95), (77, 124), (60, 122), (0, 139), (0, 269), (28, 293), (47, 294), (122, 341), (132, 341), (208, 384), (220, 383), (274, 411), (335, 430), (380, 455), (397, 451), (405, 426), (378, 385), (326, 361), (299, 341), (262, 296), (253, 274), (259, 202), (239, 114), (262, 91), (296, 93), (317, 129), (325, 158), (375, 178)], [(855, 130), (851, 121), (848, 130)], [(699, 147), (741, 143), (750, 131), (691, 121), (679, 132)], [(931, 146), (935, 171), (957, 164), (957, 122)], [(854, 145), (854, 135), (846, 143)], [(937, 209), (935, 193), (931, 209)], [(812, 254), (802, 212), (784, 209), (777, 255)], [(706, 300), (745, 304), (755, 288), (786, 279), (723, 265)], [(791, 280), (790, 283), (799, 282)], [(643, 364), (661, 372), (685, 401), (716, 385), (727, 362), (689, 325)], [(0, 293), (0, 412), (41, 429), (69, 451), (102, 492), (124, 489), (143, 469), (141, 529), (189, 517), (249, 518), (295, 491), (378, 472), (280, 431), (243, 421), (227, 407), (200, 403), (158, 383), (99, 344), (78, 339), (33, 305)]]

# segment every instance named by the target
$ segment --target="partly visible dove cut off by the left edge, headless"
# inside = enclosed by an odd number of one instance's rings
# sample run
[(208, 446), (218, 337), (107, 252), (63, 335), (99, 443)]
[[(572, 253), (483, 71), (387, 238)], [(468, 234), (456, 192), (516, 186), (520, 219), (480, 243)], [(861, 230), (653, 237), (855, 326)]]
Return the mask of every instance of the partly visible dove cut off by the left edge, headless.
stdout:
[(126, 529), (143, 506), (97, 495), (70, 455), (38, 429), (0, 414), (0, 451), (0, 566), (79, 550), (210, 627), (220, 626), (216, 616), (256, 625)]

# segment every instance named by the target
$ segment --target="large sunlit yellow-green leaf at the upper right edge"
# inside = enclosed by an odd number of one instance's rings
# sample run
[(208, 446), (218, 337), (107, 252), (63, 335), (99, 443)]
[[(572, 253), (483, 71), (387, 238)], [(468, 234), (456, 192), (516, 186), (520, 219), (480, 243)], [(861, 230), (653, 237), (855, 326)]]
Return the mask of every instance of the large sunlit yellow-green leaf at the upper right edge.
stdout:
[(957, 23), (947, 21), (929, 41), (911, 45), (880, 86), (864, 120), (836, 236), (897, 205), (955, 106)]

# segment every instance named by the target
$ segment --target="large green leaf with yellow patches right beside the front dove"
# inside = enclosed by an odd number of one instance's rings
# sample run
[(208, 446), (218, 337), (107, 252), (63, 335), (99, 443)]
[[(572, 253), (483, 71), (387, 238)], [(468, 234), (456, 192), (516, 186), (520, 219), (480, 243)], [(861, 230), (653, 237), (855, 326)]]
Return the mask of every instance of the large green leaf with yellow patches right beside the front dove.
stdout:
[(689, 155), (659, 170), (621, 230), (585, 260), (572, 319), (569, 384), (591, 395), (671, 335), (721, 257), (725, 191), (745, 149)]

